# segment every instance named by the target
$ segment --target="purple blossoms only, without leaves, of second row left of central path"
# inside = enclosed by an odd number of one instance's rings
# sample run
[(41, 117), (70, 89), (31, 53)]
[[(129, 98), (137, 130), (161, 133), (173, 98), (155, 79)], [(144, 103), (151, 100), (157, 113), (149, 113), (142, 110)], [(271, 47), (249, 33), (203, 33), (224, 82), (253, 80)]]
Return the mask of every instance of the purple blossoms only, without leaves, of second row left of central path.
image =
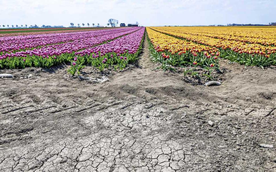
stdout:
[(27, 55), (47, 57), (47, 56), (53, 56), (53, 55), (62, 55), (64, 53), (72, 53), (72, 52), (80, 51), (82, 49), (91, 48), (107, 40), (118, 38), (125, 34), (135, 32), (139, 29), (141, 28), (137, 27), (137, 28), (127, 28), (123, 30), (120, 29), (120, 32), (118, 32), (118, 30), (116, 29), (112, 29), (107, 31), (104, 35), (100, 35), (100, 36), (83, 38), (79, 40), (74, 40), (72, 42), (65, 42), (57, 45), (49, 45), (42, 48), (35, 48), (32, 50), (18, 51), (15, 53), (5, 53), (5, 55), (0, 56), (0, 60), (11, 58), (11, 57), (27, 57)]

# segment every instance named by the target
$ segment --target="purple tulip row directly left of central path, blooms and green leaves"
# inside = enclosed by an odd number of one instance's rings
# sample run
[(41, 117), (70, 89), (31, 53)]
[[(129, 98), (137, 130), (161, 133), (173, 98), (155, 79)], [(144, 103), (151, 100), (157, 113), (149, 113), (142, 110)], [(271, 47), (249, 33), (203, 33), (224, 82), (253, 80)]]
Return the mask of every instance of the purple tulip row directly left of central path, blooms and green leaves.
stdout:
[(143, 27), (106, 44), (76, 52), (69, 73), (79, 74), (84, 64), (92, 65), (100, 71), (108, 67), (114, 67), (114, 70), (124, 69), (128, 63), (137, 60), (142, 50), (144, 32)]

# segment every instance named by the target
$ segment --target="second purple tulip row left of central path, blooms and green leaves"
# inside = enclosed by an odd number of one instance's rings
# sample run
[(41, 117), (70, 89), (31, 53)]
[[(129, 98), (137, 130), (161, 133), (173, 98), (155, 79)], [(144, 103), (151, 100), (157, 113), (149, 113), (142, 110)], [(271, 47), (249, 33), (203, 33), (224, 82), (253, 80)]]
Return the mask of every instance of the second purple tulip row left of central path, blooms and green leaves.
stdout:
[[(24, 67), (51, 67), (62, 62), (68, 62), (77, 51), (92, 48), (104, 44), (107, 41), (130, 34), (140, 28), (112, 29), (104, 35), (93, 36), (66, 42), (62, 44), (49, 45), (32, 50), (5, 53), (0, 56), (0, 68), (24, 68)], [(84, 33), (85, 34), (85, 33)]]

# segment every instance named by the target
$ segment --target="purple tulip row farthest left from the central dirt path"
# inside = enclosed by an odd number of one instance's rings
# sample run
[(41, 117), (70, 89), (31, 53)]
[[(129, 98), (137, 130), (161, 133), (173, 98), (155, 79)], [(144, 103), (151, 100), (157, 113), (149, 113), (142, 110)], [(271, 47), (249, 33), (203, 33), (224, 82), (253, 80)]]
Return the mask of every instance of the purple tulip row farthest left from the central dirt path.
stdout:
[(39, 34), (26, 36), (7, 36), (0, 37), (0, 52), (22, 50), (56, 44), (60, 42), (69, 42), (74, 40), (87, 39), (95, 36), (106, 35), (108, 33), (117, 33), (131, 30), (133, 28), (104, 29), (83, 32)]

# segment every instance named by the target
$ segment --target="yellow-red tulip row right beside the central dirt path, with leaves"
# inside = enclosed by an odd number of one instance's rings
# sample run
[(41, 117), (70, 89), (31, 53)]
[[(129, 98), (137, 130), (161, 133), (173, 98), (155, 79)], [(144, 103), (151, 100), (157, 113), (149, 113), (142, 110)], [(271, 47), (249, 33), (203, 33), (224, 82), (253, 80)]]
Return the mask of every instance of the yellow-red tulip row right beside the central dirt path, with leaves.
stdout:
[(150, 58), (153, 62), (160, 63), (157, 69), (175, 70), (173, 66), (180, 66), (185, 67), (185, 75), (190, 72), (200, 77), (196, 68), (201, 67), (205, 71), (203, 75), (210, 79), (214, 70), (220, 70), (218, 63), (220, 52), (217, 49), (180, 40), (151, 28), (147, 28), (147, 35)]

